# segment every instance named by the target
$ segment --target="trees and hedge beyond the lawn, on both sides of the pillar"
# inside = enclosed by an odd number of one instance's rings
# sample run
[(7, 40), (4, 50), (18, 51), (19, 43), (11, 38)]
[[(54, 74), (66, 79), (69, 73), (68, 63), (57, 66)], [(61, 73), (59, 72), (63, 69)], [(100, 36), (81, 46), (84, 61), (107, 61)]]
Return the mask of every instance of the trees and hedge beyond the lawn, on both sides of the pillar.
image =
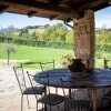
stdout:
[[(42, 29), (42, 31), (34, 31), (29, 33), (29, 29)], [(36, 46), (41, 48), (59, 48), (59, 49), (73, 49), (74, 33), (69, 30), (63, 23), (53, 26), (28, 26), (19, 31), (19, 34), (13, 32), (14, 27), (9, 26), (9, 32), (6, 34), (0, 33), (0, 42), (7, 39), (14, 41), (18, 44)], [(13, 38), (11, 38), (13, 37)], [(103, 53), (111, 52), (111, 29), (105, 29), (105, 26), (95, 34), (95, 56), (98, 59), (104, 57)]]

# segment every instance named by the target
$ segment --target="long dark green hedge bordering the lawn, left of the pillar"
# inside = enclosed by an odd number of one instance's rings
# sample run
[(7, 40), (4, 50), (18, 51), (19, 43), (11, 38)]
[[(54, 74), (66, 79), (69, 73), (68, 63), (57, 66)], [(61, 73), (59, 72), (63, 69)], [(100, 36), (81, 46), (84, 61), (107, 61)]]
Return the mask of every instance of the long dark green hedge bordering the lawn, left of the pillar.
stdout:
[[(38, 37), (37, 37), (38, 38)], [(6, 40), (10, 40), (17, 44), (26, 44), (41, 48), (59, 48), (59, 49), (73, 49), (73, 43), (71, 42), (50, 42), (50, 41), (36, 41), (36, 40), (24, 40), (21, 38), (6, 38), (0, 37), (0, 42), (4, 42)]]

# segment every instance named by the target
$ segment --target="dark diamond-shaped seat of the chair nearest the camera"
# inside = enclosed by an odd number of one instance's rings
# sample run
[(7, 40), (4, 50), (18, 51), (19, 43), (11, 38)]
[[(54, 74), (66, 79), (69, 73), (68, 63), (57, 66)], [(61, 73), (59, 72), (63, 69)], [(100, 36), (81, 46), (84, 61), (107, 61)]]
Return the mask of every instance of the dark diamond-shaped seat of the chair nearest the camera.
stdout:
[(50, 94), (47, 94), (44, 97), (42, 97), (39, 102), (42, 102), (44, 104), (48, 104), (48, 105), (56, 105), (62, 101), (64, 101), (64, 97), (62, 95), (58, 95), (58, 94), (54, 94), (54, 93), (50, 93)]

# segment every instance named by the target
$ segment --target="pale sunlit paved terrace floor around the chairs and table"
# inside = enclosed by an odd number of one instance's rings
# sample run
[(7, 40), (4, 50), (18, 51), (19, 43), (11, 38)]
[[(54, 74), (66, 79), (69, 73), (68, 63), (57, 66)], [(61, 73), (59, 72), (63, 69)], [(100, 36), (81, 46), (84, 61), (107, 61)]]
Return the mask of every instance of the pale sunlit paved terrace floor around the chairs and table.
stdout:
[[(36, 73), (37, 70), (26, 69), (31, 73)], [(65, 92), (68, 92), (65, 90)], [(61, 89), (59, 90), (61, 94)], [(84, 92), (85, 93), (85, 92)], [(83, 92), (77, 92), (77, 98), (83, 98)], [(28, 109), (27, 99), (24, 97), (23, 111), (36, 111), (36, 99), (30, 95), (30, 105), (31, 109)], [(39, 111), (41, 110), (41, 104), (39, 104)], [(58, 110), (57, 105), (52, 108), (52, 111), (63, 111), (63, 103), (60, 104)], [(0, 64), (0, 111), (20, 111), (20, 90), (12, 70), (12, 65)], [(78, 111), (78, 110), (71, 110)], [(82, 109), (82, 111), (87, 111)], [(98, 111), (111, 111), (111, 108), (99, 109)]]

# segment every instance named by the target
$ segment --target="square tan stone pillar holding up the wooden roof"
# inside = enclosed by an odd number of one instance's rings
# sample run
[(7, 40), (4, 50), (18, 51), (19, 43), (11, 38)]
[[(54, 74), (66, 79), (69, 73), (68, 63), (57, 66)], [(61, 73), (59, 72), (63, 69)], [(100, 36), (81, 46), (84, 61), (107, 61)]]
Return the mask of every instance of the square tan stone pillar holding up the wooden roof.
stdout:
[(94, 68), (94, 12), (85, 10), (84, 17), (74, 21), (75, 58), (90, 59), (90, 68)]

